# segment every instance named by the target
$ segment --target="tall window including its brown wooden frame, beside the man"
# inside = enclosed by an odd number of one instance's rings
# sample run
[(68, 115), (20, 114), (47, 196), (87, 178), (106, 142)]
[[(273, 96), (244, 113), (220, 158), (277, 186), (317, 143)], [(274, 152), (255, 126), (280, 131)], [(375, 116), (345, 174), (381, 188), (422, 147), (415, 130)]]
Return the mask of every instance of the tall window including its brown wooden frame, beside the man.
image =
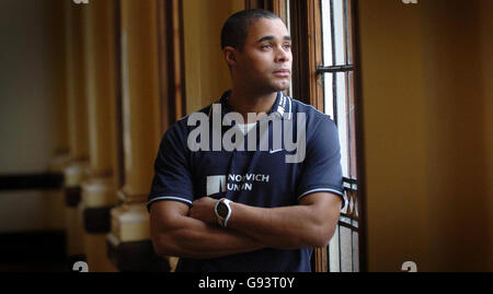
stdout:
[[(294, 39), (294, 77), (290, 93), (330, 115), (337, 125), (346, 205), (326, 248), (317, 248), (313, 270), (365, 270), (362, 221), (363, 176), (357, 46), (357, 0), (273, 0), (274, 12), (288, 15)], [(284, 10), (276, 11), (276, 2)], [(285, 11), (285, 12), (284, 12)], [(282, 13), (285, 14), (282, 14)], [(362, 258), (363, 257), (363, 258)]]

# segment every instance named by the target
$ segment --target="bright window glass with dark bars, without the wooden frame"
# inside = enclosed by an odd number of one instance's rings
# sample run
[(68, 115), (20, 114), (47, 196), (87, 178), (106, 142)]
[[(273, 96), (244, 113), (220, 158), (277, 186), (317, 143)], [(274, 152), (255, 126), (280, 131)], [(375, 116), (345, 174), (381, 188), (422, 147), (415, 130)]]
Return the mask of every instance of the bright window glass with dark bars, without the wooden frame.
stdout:
[(329, 271), (359, 271), (358, 185), (355, 132), (355, 85), (352, 0), (320, 0), (323, 62), (323, 106), (337, 125), (347, 201), (329, 251)]

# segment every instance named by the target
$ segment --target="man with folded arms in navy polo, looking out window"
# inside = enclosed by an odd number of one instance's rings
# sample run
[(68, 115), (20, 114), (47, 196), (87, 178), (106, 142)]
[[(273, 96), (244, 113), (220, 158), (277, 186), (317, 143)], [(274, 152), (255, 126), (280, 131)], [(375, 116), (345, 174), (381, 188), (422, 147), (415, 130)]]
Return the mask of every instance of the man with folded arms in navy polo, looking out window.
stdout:
[[(180, 257), (176, 271), (310, 271), (312, 248), (328, 244), (343, 204), (335, 124), (282, 92), (289, 86), (293, 55), (277, 15), (265, 10), (231, 15), (221, 46), (231, 91), (173, 125), (160, 145), (148, 203), (154, 250)], [(237, 124), (225, 119), (230, 113), (241, 114)], [(264, 131), (251, 116), (262, 113), (271, 118)], [(211, 126), (210, 132), (192, 138), (199, 127), (193, 116), (211, 118), (199, 125)], [(222, 126), (215, 125), (215, 116)], [(279, 124), (288, 134), (297, 129), (299, 149), (306, 143), (299, 161), (287, 161), (293, 149), (274, 127)], [(255, 150), (214, 148), (215, 132), (238, 129), (239, 145), (257, 134)], [(280, 145), (272, 143), (279, 136)], [(196, 149), (198, 141), (205, 148)]]

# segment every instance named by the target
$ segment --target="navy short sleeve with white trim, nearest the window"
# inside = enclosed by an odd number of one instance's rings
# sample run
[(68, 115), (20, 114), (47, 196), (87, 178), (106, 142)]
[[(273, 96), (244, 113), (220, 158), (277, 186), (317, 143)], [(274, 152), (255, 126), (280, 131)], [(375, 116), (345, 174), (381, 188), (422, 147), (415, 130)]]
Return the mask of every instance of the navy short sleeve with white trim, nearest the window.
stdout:
[(307, 142), (307, 156), (302, 163), (301, 178), (298, 184), (298, 200), (313, 192), (339, 195), (345, 205), (341, 148), (337, 128), (329, 116), (318, 119)]

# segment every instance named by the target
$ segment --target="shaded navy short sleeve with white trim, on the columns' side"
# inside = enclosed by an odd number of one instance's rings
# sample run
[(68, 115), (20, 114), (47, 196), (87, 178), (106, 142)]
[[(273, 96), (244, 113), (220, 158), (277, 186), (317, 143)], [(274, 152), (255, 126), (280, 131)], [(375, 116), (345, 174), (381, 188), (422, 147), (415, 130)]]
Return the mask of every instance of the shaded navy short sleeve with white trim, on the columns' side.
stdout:
[(154, 162), (154, 177), (147, 208), (158, 200), (180, 201), (192, 205), (193, 185), (188, 166), (185, 134), (180, 126), (172, 126), (161, 140)]

